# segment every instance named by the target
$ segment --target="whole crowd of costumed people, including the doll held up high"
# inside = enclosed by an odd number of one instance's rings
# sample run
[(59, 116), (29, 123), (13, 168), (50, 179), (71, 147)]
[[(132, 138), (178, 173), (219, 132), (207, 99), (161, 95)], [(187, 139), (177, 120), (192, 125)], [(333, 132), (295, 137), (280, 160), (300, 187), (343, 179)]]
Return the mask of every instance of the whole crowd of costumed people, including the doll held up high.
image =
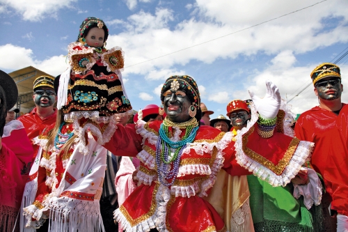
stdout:
[(211, 119), (189, 75), (134, 114), (108, 35), (84, 20), (68, 69), (36, 78), (35, 108), (17, 120), (17, 86), (0, 70), (0, 231), (348, 231), (337, 65), (310, 74), (319, 106), (296, 121), (269, 81), (264, 98)]

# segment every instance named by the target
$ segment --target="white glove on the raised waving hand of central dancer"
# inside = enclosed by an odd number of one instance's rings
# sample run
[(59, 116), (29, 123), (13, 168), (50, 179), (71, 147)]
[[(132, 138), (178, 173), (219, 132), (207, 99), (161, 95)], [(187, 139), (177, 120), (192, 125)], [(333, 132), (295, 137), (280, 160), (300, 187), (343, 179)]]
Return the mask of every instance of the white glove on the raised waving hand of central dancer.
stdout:
[(273, 119), (276, 118), (280, 108), (280, 93), (278, 87), (271, 81), (267, 80), (266, 86), (267, 93), (264, 98), (259, 98), (252, 91), (249, 91), (249, 95), (262, 118)]

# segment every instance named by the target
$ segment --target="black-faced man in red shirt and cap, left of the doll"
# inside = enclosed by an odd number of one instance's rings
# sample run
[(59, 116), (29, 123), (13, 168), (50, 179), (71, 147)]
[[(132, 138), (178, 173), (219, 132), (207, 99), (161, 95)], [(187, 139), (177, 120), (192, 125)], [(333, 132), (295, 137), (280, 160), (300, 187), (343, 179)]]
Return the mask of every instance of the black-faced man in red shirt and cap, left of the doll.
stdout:
[(34, 156), (38, 153), (39, 146), (34, 143), (33, 139), (48, 132), (56, 123), (57, 110), (54, 103), (57, 97), (54, 92), (54, 78), (41, 76), (35, 79), (33, 83), (33, 101), (35, 108), (18, 118), (25, 127), (26, 133), (33, 144)]

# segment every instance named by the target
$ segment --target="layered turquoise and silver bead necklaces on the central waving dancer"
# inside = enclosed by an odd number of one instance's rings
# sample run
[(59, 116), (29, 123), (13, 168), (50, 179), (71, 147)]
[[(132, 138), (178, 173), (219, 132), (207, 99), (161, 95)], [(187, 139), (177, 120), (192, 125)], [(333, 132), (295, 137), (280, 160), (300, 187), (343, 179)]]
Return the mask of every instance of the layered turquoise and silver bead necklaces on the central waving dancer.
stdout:
[[(186, 129), (184, 137), (180, 141), (171, 141), (168, 137), (169, 127), (179, 127), (180, 129)], [(186, 148), (188, 143), (191, 143), (196, 137), (198, 130), (198, 122), (196, 118), (192, 118), (190, 121), (184, 123), (173, 123), (167, 118), (164, 119), (161, 127), (159, 127), (159, 137), (156, 144), (156, 164), (157, 172), (159, 173), (159, 182), (166, 186), (173, 185), (177, 173), (179, 172), (180, 158), (182, 151)], [(175, 149), (172, 156), (169, 155), (170, 150)], [(173, 164), (173, 169), (171, 169)], [(173, 178), (171, 183), (167, 183), (164, 179), (168, 180)]]

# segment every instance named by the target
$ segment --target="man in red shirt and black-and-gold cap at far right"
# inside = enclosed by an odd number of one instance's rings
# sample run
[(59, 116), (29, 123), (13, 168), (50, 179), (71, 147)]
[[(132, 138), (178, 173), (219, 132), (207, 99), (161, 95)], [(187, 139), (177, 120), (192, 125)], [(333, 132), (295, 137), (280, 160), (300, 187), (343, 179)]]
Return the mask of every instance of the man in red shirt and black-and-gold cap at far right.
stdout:
[[(338, 118), (347, 121), (347, 115), (342, 114), (341, 109), (346, 108), (342, 103), (341, 95), (343, 86), (341, 84), (340, 68), (333, 63), (322, 63), (313, 70), (310, 77), (314, 85), (314, 93), (318, 96), (319, 106), (302, 113), (296, 121), (295, 135), (301, 140), (313, 141), (315, 147), (310, 160), (315, 171), (324, 178), (326, 193), (322, 197), (322, 209), (324, 210), (325, 231), (336, 231), (336, 218), (330, 217), (340, 215), (337, 219), (345, 217), (345, 224), (348, 227), (348, 192), (347, 191), (347, 169), (339, 168), (340, 165), (347, 163), (347, 153), (339, 147), (342, 145), (339, 137), (332, 138), (332, 132), (338, 128), (345, 130), (345, 127), (336, 125)], [(339, 127), (338, 127), (339, 126)], [(333, 146), (331, 139), (335, 139), (336, 145)], [(332, 154), (333, 157), (330, 157)], [(340, 164), (331, 165), (332, 159), (342, 159)], [(332, 168), (338, 165), (338, 168)], [(330, 167), (332, 166), (332, 167)], [(334, 180), (328, 180), (327, 174), (335, 173)], [(337, 190), (332, 188), (334, 182), (340, 183)], [(335, 196), (343, 194), (345, 197), (338, 199)], [(331, 212), (329, 209), (331, 208)], [(337, 211), (337, 212), (336, 212)], [(347, 229), (348, 230), (348, 229)], [(337, 231), (343, 231), (342, 229)]]

